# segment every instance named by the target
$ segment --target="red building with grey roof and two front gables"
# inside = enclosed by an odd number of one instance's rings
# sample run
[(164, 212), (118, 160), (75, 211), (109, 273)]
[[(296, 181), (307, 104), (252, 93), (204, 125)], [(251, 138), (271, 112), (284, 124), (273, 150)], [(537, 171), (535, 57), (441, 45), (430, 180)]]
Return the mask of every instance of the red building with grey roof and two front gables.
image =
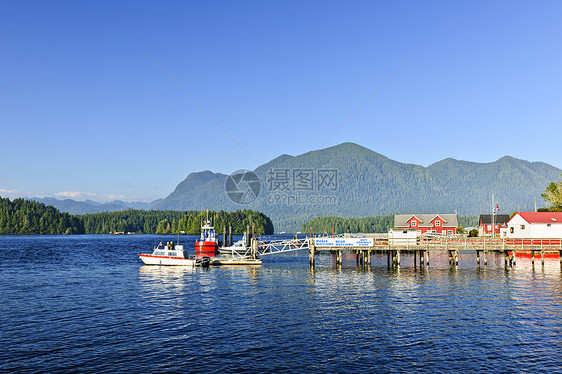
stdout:
[(457, 233), (456, 214), (396, 214), (394, 227), (416, 229), (423, 234), (454, 235)]

